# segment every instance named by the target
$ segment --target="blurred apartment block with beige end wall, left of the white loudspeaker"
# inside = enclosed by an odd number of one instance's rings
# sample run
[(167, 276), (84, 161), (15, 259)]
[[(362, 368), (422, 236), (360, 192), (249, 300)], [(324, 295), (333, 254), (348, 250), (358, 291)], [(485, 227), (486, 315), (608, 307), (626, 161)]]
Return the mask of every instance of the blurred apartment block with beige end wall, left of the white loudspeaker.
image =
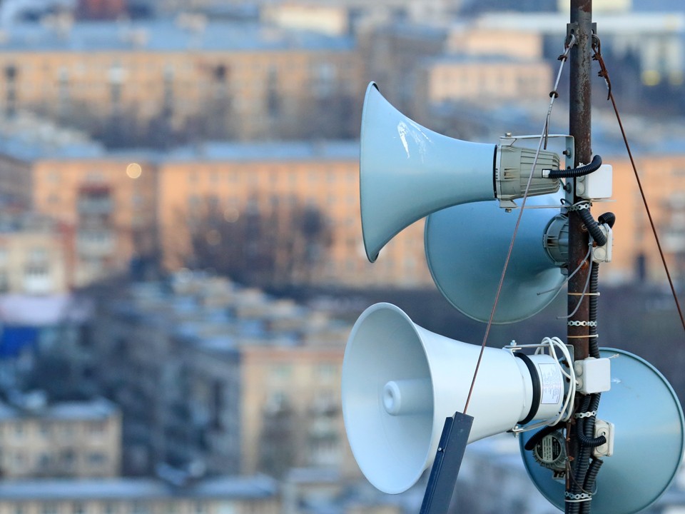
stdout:
[(123, 467), (355, 473), (340, 366), (349, 326), (219, 278), (178, 273), (96, 318), (101, 392), (123, 410)]

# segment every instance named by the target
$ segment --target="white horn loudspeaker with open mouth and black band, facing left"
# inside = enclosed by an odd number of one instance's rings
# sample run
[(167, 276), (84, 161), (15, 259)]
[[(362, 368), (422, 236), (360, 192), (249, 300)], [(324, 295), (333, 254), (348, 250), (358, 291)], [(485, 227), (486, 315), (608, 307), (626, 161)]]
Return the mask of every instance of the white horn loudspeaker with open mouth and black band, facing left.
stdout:
[[(427, 331), (377, 303), (352, 328), (342, 363), (342, 415), (362, 473), (401, 493), (435, 458), (445, 418), (463, 412), (480, 346)], [(564, 381), (548, 355), (484, 348), (467, 414), (469, 442), (559, 412)]]

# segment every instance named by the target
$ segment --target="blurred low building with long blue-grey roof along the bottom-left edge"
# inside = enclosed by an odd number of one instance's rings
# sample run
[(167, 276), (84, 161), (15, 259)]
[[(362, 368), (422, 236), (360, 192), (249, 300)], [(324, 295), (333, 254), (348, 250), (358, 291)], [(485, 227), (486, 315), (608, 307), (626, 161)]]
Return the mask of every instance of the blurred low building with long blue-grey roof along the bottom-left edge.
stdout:
[(26, 513), (279, 514), (280, 497), (278, 483), (263, 475), (180, 485), (153, 478), (56, 478), (3, 481), (0, 508)]

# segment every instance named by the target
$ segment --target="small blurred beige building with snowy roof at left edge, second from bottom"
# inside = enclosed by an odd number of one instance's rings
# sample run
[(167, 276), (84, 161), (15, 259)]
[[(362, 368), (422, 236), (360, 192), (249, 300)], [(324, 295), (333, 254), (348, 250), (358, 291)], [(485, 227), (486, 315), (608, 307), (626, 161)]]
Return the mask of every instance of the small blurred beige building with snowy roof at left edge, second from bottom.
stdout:
[(121, 413), (116, 405), (102, 398), (47, 404), (38, 393), (20, 396), (15, 405), (0, 405), (3, 478), (119, 475)]

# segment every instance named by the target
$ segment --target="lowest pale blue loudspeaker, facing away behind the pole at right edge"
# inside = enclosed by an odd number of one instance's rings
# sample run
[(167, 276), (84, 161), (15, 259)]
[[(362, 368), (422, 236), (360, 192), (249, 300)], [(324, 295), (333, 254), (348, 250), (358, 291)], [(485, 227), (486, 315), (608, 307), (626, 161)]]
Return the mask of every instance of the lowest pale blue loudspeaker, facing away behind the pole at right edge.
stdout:
[[(602, 393), (597, 418), (614, 423), (614, 453), (603, 458), (592, 491), (592, 514), (633, 514), (669, 487), (685, 449), (685, 422), (678, 397), (659, 371), (632, 353), (602, 348), (612, 358), (612, 388)], [(564, 510), (564, 480), (537, 463), (520, 440), (524, 465), (540, 493)]]

